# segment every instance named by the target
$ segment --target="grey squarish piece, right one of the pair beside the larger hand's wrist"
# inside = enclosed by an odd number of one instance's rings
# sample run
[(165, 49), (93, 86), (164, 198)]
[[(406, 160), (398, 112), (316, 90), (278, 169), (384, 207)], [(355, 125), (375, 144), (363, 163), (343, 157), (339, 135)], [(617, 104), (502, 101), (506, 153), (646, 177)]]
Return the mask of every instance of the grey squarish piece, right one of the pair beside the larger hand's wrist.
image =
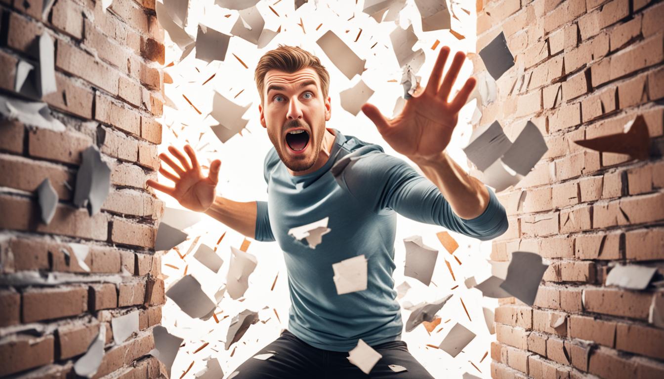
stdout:
[(528, 175), (548, 150), (542, 132), (528, 121), (511, 147), (505, 151), (501, 161), (521, 175)]

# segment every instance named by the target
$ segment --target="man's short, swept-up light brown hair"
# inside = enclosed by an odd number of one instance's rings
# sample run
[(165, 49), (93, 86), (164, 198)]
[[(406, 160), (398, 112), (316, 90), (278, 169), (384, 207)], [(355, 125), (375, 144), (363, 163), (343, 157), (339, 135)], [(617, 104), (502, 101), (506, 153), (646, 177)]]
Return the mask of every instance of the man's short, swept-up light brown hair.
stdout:
[(327, 99), (330, 76), (325, 66), (321, 64), (321, 60), (298, 46), (279, 44), (278, 48), (274, 48), (263, 54), (256, 65), (254, 80), (256, 80), (256, 87), (258, 88), (258, 94), (260, 94), (260, 104), (263, 104), (264, 80), (268, 71), (278, 70), (291, 74), (307, 67), (313, 68), (318, 74), (321, 82), (321, 91), (323, 91), (323, 99)]

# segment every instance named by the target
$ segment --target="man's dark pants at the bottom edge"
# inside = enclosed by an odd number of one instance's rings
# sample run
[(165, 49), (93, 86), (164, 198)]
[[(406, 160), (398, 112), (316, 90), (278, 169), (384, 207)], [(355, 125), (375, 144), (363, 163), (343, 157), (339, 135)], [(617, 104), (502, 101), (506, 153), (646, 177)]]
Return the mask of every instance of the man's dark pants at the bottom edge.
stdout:
[[(268, 350), (273, 350), (277, 354), (267, 360), (249, 358), (234, 370), (238, 372), (234, 379), (434, 379), (408, 352), (406, 342), (392, 341), (371, 347), (382, 358), (367, 375), (347, 359), (348, 352), (313, 347), (284, 330), (278, 339), (256, 352), (267, 354)], [(407, 371), (394, 372), (388, 367), (390, 364), (404, 366)]]

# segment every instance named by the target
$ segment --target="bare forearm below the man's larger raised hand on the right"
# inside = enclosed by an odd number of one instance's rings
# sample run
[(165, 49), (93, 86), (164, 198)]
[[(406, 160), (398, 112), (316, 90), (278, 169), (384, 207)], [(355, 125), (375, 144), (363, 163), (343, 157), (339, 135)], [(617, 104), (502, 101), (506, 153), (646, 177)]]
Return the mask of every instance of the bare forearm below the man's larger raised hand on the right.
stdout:
[(436, 159), (413, 161), (438, 187), (457, 216), (470, 220), (487, 208), (489, 191), (484, 183), (463, 171), (445, 151)]

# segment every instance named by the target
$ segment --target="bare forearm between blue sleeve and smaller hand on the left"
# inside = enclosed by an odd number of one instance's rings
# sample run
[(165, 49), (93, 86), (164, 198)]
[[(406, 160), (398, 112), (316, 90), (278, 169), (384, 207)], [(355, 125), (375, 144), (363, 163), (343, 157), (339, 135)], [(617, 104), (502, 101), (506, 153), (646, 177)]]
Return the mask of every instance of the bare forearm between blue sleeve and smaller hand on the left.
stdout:
[(254, 238), (256, 234), (256, 202), (236, 202), (216, 196), (205, 214), (240, 234)]

